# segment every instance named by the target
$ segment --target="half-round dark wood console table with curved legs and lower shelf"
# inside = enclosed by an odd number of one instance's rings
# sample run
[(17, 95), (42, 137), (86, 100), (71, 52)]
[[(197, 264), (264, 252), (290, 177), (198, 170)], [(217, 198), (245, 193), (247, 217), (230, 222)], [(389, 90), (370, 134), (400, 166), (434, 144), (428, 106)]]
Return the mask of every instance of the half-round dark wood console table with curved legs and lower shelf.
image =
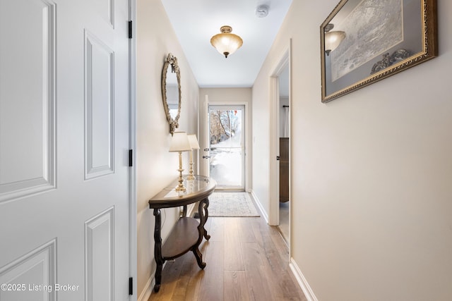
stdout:
[[(208, 219), (208, 197), (215, 190), (217, 183), (215, 180), (204, 177), (195, 176), (195, 180), (186, 180), (184, 177), (185, 192), (177, 192), (174, 190), (179, 182), (174, 183), (164, 188), (149, 200), (149, 208), (154, 209), (155, 229), (154, 229), (154, 258), (157, 264), (155, 269), (155, 286), (154, 291), (160, 290), (160, 283), (162, 281), (163, 264), (167, 260), (171, 260), (182, 256), (186, 252), (192, 251), (196, 257), (196, 262), (201, 269), (206, 267), (203, 262), (203, 255), (199, 251), (203, 237), (209, 240), (210, 235), (207, 234), (204, 225)], [(186, 216), (186, 207), (189, 204), (199, 202), (198, 214), (199, 222), (196, 219)], [(184, 207), (184, 211), (179, 221), (172, 229), (171, 233), (162, 246), (162, 237), (160, 234), (162, 228), (162, 221), (160, 217), (160, 209)]]

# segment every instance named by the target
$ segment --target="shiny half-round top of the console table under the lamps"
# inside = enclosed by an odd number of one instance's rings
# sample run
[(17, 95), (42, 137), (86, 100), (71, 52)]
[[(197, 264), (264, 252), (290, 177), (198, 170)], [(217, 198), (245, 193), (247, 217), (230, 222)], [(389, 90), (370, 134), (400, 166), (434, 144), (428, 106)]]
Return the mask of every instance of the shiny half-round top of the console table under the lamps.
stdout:
[(178, 184), (179, 182), (174, 180), (167, 188), (158, 192), (157, 195), (149, 200), (149, 208), (172, 208), (198, 202), (208, 197), (217, 185), (215, 180), (205, 176), (195, 176), (195, 180), (186, 180), (186, 176), (184, 176), (186, 191), (179, 193), (174, 190)]

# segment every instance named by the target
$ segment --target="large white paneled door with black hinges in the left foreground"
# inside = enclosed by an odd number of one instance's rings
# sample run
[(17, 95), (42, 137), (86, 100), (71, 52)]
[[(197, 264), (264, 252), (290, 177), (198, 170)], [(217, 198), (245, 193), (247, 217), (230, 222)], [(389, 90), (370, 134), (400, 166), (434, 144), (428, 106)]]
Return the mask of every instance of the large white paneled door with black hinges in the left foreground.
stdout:
[(0, 0), (0, 300), (128, 300), (128, 0)]

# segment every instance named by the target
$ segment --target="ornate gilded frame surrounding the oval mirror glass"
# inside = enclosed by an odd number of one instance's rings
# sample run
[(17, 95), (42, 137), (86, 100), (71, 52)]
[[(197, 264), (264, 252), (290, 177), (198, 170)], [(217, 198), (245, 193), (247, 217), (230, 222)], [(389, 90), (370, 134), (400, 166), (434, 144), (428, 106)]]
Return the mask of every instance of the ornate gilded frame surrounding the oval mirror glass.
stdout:
[[(171, 67), (171, 72), (176, 73), (177, 77), (177, 87), (179, 90), (179, 105), (177, 106), (177, 116), (176, 118), (172, 118), (169, 113), (169, 106), (167, 102), (167, 70)], [(176, 128), (179, 128), (179, 117), (181, 114), (181, 102), (182, 102), (182, 92), (181, 92), (181, 73), (179, 69), (179, 65), (177, 64), (177, 57), (172, 54), (168, 54), (165, 59), (165, 63), (163, 64), (162, 69), (162, 100), (163, 100), (163, 109), (165, 109), (165, 114), (167, 115), (167, 121), (169, 123), (169, 133), (171, 135), (174, 133)]]

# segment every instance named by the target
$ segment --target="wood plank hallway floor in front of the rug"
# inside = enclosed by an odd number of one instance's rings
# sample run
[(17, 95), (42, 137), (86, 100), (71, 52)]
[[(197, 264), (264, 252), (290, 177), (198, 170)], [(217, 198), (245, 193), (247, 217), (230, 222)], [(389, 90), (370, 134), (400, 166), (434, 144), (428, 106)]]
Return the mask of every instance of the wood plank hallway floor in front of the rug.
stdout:
[(200, 247), (206, 268), (192, 252), (167, 262), (149, 301), (307, 300), (283, 238), (262, 217), (209, 217), (206, 229), (211, 238)]

